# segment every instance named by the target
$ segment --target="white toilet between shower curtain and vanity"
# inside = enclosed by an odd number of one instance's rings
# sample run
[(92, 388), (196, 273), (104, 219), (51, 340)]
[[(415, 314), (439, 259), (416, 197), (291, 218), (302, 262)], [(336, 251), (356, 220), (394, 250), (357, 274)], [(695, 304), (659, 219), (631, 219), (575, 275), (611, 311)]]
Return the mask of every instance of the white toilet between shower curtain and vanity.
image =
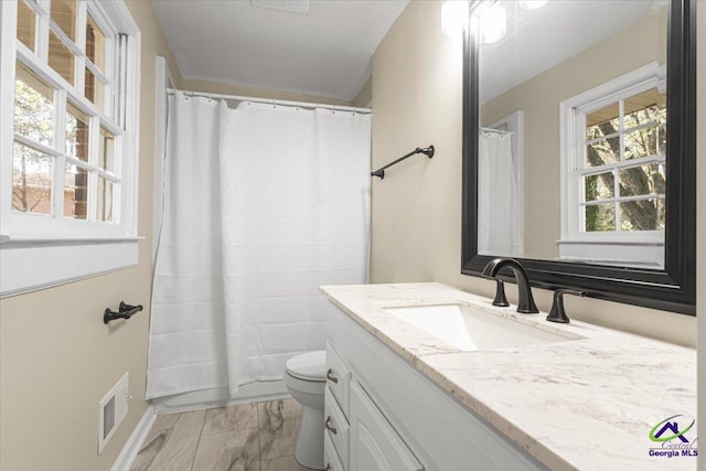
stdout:
[(295, 355), (287, 361), (285, 384), (302, 405), (295, 458), (299, 464), (323, 469), (323, 395), (327, 387), (327, 352)]

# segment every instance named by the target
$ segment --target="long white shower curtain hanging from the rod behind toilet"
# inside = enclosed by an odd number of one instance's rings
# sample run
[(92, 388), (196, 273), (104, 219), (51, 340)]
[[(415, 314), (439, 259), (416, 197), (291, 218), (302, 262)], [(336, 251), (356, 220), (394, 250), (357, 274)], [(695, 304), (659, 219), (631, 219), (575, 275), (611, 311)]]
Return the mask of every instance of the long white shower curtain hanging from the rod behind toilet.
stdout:
[(318, 286), (367, 281), (370, 115), (169, 105), (148, 398), (235, 394), (324, 346)]

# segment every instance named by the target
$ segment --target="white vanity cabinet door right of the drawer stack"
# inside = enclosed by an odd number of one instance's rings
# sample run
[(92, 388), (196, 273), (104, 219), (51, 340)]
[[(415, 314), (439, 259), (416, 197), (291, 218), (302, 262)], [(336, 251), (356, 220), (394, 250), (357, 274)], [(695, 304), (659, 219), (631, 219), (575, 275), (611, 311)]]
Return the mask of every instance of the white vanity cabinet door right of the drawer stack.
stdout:
[(351, 382), (350, 471), (424, 471), (361, 385)]

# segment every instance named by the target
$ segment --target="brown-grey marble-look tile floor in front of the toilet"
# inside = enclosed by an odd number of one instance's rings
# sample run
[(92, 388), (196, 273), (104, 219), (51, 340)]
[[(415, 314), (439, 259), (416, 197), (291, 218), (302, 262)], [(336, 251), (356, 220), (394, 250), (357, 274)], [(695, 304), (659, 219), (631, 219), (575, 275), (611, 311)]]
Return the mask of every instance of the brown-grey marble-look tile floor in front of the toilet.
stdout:
[(309, 471), (295, 461), (293, 399), (157, 417), (130, 471)]

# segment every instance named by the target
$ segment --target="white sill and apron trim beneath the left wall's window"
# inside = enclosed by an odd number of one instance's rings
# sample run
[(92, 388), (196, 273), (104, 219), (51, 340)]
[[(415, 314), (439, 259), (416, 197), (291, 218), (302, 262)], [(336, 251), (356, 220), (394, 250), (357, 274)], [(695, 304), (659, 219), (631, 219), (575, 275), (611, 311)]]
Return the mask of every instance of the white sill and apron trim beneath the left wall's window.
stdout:
[(0, 245), (0, 298), (133, 267), (138, 255), (137, 239), (4, 242)]

